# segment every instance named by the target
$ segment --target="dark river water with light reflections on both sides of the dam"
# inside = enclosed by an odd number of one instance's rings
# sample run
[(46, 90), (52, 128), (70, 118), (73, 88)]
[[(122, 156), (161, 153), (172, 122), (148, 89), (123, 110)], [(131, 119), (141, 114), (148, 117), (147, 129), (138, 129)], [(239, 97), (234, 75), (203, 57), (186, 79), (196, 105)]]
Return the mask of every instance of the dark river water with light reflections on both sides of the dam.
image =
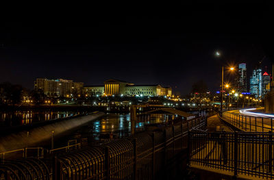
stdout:
[[(82, 112), (57, 112), (57, 111), (16, 111), (0, 112), (0, 127), (21, 126), (40, 121), (53, 120), (81, 114)], [(136, 131), (144, 131), (145, 125), (164, 123), (166, 119), (174, 118), (164, 114), (141, 116), (135, 123)], [(64, 138), (56, 140), (56, 144), (64, 145), (68, 140), (91, 137), (92, 140), (108, 139), (110, 132), (114, 138), (122, 138), (132, 133), (130, 114), (105, 114), (100, 118), (90, 121), (87, 125), (79, 127), (66, 134)], [(64, 144), (62, 143), (64, 142)]]

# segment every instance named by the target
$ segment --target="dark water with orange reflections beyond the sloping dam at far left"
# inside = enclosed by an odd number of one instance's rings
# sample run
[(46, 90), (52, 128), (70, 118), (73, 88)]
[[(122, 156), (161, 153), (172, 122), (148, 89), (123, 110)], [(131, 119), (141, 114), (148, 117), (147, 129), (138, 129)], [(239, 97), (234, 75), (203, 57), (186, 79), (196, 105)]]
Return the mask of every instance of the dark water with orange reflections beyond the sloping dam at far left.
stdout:
[(79, 114), (79, 112), (54, 112), (54, 111), (15, 111), (0, 112), (0, 126), (12, 127), (27, 125), (39, 121), (64, 118)]

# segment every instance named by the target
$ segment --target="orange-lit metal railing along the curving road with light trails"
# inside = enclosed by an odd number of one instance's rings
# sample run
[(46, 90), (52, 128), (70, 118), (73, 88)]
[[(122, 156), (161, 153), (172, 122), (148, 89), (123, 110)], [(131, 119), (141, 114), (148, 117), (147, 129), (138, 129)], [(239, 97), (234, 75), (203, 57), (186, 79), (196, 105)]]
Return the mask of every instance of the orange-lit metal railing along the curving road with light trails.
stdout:
[(242, 131), (273, 131), (273, 118), (246, 116), (232, 112), (223, 112), (223, 120)]

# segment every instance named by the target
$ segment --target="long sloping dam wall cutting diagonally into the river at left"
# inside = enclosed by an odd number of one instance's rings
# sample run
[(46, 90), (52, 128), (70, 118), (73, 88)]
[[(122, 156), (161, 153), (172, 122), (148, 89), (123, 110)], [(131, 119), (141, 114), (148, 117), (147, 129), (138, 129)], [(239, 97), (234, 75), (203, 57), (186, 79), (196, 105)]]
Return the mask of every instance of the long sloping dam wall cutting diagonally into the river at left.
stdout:
[(40, 142), (47, 140), (50, 142), (52, 131), (54, 131), (54, 136), (61, 136), (62, 133), (85, 125), (103, 115), (103, 112), (97, 112), (0, 137), (0, 153), (25, 148), (26, 146), (38, 146)]

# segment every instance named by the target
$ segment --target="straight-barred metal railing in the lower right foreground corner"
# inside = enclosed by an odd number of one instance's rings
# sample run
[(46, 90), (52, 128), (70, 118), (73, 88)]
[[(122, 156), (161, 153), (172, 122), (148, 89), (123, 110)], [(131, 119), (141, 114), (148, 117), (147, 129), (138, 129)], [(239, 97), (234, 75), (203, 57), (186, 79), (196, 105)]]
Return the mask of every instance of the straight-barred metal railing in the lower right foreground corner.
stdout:
[(190, 167), (225, 175), (274, 179), (274, 133), (189, 132)]

